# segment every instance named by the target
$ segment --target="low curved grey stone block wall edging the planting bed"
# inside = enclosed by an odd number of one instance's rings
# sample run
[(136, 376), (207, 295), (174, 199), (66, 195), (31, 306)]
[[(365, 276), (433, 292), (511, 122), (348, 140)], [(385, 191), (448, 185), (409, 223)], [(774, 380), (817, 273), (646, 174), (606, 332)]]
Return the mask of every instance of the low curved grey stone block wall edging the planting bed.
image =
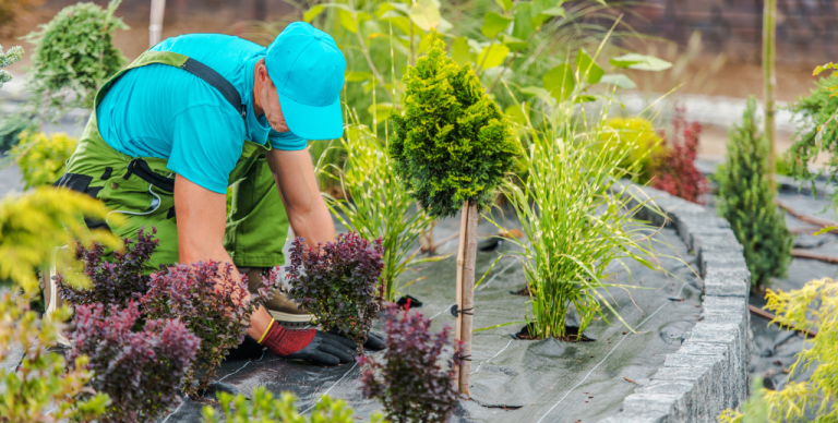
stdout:
[(633, 196), (633, 206), (645, 204), (639, 218), (677, 228), (698, 255), (704, 298), (701, 321), (684, 334), (681, 348), (602, 423), (716, 422), (722, 410), (749, 396), (751, 274), (742, 245), (727, 220), (697, 204), (651, 188), (623, 186), (614, 190)]

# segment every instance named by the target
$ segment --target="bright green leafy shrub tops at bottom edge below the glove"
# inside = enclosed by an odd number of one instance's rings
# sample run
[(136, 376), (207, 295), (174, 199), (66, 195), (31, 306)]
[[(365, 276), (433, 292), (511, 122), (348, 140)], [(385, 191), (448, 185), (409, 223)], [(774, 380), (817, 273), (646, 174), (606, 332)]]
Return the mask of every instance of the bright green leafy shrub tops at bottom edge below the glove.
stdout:
[[(352, 409), (339, 398), (322, 396), (308, 419), (300, 415), (295, 401), (297, 398), (291, 392), (283, 392), (279, 399), (275, 399), (264, 386), (253, 389), (251, 401), (241, 394), (234, 397), (228, 392), (218, 392), (226, 423), (356, 423), (361, 420), (352, 418)], [(222, 422), (215, 413), (212, 406), (205, 406), (202, 412), (204, 423)], [(381, 413), (372, 414), (369, 423), (383, 423)]]

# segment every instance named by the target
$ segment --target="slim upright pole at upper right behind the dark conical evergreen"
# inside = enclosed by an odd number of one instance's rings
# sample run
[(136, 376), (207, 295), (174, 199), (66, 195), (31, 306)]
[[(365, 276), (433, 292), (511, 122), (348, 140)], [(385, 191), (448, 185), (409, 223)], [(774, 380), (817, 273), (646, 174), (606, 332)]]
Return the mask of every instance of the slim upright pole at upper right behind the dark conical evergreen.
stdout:
[(777, 169), (774, 146), (774, 92), (777, 88), (775, 52), (777, 49), (777, 0), (764, 0), (763, 10), (763, 82), (765, 83), (765, 140), (768, 143), (768, 181), (775, 189), (774, 173)]

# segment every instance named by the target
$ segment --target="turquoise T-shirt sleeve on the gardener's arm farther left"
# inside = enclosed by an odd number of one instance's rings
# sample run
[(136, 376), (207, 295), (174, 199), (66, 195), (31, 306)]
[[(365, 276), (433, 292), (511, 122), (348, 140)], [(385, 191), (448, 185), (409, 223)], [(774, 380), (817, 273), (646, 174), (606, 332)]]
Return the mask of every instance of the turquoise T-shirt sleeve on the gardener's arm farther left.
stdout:
[(206, 104), (183, 110), (171, 125), (168, 168), (210, 191), (227, 193), (230, 172), (244, 144), (241, 118)]

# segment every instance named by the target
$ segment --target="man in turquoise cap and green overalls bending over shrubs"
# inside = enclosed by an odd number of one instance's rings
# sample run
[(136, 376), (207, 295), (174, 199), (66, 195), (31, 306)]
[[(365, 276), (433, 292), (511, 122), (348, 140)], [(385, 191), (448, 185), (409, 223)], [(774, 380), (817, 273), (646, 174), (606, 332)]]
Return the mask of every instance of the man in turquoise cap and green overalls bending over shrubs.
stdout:
[[(152, 268), (234, 263), (253, 290), (264, 269), (284, 263), (289, 223), (309, 245), (335, 238), (306, 146), (342, 136), (345, 69), (334, 39), (301, 22), (267, 49), (227, 35), (169, 38), (99, 89), (57, 184), (112, 210), (91, 228), (120, 238), (156, 228)], [(352, 361), (349, 339), (284, 328), (279, 323), (307, 325), (311, 315), (279, 290), (265, 305), (248, 335), (273, 353), (325, 365)]]

